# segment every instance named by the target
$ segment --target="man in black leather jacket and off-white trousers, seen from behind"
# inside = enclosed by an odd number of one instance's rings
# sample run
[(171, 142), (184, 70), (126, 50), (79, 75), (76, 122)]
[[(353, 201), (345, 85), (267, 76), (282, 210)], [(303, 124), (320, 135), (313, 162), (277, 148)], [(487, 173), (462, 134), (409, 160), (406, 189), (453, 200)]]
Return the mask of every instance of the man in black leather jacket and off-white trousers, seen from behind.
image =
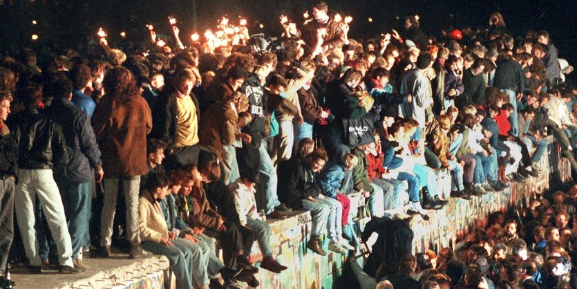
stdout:
[(68, 162), (66, 142), (62, 128), (39, 111), (41, 100), (41, 86), (28, 84), (23, 93), (26, 110), (15, 115), (10, 122), (15, 124), (18, 142), (19, 183), (15, 206), (18, 207), (16, 216), (20, 234), (32, 271), (41, 273), (35, 229), (35, 203), (36, 198), (39, 198), (56, 243), (60, 261), (59, 272), (82, 272), (79, 268), (74, 268), (64, 205), (53, 178), (53, 169)]

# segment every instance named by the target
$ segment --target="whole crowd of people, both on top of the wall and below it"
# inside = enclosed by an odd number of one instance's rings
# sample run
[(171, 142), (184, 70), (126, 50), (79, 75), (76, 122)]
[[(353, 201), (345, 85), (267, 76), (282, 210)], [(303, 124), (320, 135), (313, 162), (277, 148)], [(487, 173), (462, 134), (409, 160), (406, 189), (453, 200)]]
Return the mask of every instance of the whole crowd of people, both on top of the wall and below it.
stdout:
[[(80, 51), (2, 55), (0, 273), (15, 223), (32, 272), (50, 268), (52, 250), (52, 265), (73, 274), (88, 269), (83, 256), (110, 257), (118, 214), (129, 257), (167, 256), (180, 288), (256, 287), (253, 243), (261, 269), (287, 270), (266, 221), (292, 210), (312, 214), (309, 250), (326, 255), (325, 235), (327, 250), (346, 255), (354, 192), (375, 220), (385, 211), (428, 220), (448, 203), (435, 171), (450, 173), (453, 198), (500, 192), (539, 176), (547, 136), (577, 171), (572, 68), (549, 33), (515, 38), (498, 12), (488, 27), (438, 36), (410, 16), (405, 31), (364, 41), (349, 39), (350, 21), (323, 2), (300, 29), (281, 21), (276, 44), (231, 28), (238, 34), (227, 41), (185, 45), (171, 24), (174, 45), (150, 26), (143, 48), (111, 48), (102, 33)], [(555, 230), (551, 214), (565, 216), (564, 236), (569, 200), (531, 205), (523, 224), (538, 223), (542, 236)], [(450, 250), (438, 252), (438, 266), (434, 252), (404, 256), (390, 275), (372, 272), (366, 288), (383, 276), (395, 288), (568, 281), (554, 277), (567, 275), (570, 241), (536, 241), (547, 257), (538, 270), (527, 261), (532, 247), (511, 241), (517, 227), (475, 231), (462, 263)]]

